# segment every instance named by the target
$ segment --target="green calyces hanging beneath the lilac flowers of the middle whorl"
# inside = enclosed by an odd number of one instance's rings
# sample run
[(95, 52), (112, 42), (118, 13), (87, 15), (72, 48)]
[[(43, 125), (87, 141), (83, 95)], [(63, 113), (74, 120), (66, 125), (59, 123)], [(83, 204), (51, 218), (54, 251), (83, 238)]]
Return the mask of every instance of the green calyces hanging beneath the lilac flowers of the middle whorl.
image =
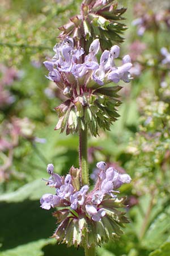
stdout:
[(121, 86), (105, 87), (93, 90), (91, 95), (78, 96), (75, 101), (66, 100), (56, 108), (59, 121), (56, 130), (74, 133), (78, 126), (84, 130), (88, 126), (90, 133), (98, 134), (99, 128), (109, 130), (119, 114), (116, 107), (121, 104), (117, 92)]

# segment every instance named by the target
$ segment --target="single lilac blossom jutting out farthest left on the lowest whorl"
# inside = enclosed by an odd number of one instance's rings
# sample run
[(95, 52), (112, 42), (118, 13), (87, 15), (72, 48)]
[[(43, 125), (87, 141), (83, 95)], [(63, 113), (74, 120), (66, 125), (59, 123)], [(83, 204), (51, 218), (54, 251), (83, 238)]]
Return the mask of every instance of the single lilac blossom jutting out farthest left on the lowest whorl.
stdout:
[(49, 210), (51, 207), (57, 207), (59, 203), (59, 197), (52, 194), (45, 194), (40, 199), (41, 208), (46, 210)]

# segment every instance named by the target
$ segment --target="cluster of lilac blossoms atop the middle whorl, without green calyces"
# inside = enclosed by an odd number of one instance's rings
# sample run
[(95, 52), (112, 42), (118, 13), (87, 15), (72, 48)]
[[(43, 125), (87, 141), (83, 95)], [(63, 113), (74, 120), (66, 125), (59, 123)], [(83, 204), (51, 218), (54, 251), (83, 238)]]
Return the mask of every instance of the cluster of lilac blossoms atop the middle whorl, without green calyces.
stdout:
[[(95, 39), (89, 48), (88, 55), (84, 56), (83, 48), (74, 48), (73, 39), (67, 37), (62, 43), (54, 46), (55, 55), (52, 60), (44, 61), (45, 67), (49, 70), (47, 78), (56, 82), (59, 89), (65, 94), (65, 88), (74, 86), (75, 96), (82, 96), (82, 89), (86, 90), (96, 84), (102, 86), (110, 81), (129, 82), (131, 79), (131, 60), (129, 55), (124, 56), (122, 65), (116, 67), (114, 59), (120, 55), (120, 47), (112, 46), (111, 50), (105, 50), (100, 57), (100, 64), (96, 55), (100, 49), (99, 39)], [(83, 83), (86, 86), (83, 86)], [(67, 85), (67, 86), (66, 86)], [(79, 85), (81, 88), (78, 88)], [(66, 94), (73, 97), (73, 93)]]

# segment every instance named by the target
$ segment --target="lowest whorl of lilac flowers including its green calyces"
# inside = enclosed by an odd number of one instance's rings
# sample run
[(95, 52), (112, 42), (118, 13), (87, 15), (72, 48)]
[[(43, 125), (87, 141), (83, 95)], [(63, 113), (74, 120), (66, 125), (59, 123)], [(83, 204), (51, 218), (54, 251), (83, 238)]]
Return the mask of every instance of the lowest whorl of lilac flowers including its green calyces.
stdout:
[(121, 227), (128, 222), (122, 208), (124, 199), (118, 200), (117, 191), (124, 183), (130, 183), (128, 174), (119, 174), (105, 162), (96, 164), (99, 168), (94, 189), (88, 185), (80, 187), (80, 171), (71, 167), (66, 177), (54, 173), (53, 164), (48, 164), (49, 187), (56, 189), (55, 195), (45, 194), (41, 197), (41, 208), (59, 208), (53, 213), (60, 223), (54, 232), (58, 242), (67, 245), (91, 247), (100, 245), (108, 239), (115, 239), (122, 233)]

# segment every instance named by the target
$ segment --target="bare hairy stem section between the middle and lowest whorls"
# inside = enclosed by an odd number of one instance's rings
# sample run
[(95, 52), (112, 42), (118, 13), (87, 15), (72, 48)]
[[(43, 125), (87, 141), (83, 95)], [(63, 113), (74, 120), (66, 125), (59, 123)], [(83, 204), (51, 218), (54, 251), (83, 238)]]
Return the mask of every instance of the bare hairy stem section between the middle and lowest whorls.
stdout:
[(87, 125), (84, 130), (79, 129), (79, 164), (81, 170), (82, 186), (88, 185), (88, 163), (87, 163)]

